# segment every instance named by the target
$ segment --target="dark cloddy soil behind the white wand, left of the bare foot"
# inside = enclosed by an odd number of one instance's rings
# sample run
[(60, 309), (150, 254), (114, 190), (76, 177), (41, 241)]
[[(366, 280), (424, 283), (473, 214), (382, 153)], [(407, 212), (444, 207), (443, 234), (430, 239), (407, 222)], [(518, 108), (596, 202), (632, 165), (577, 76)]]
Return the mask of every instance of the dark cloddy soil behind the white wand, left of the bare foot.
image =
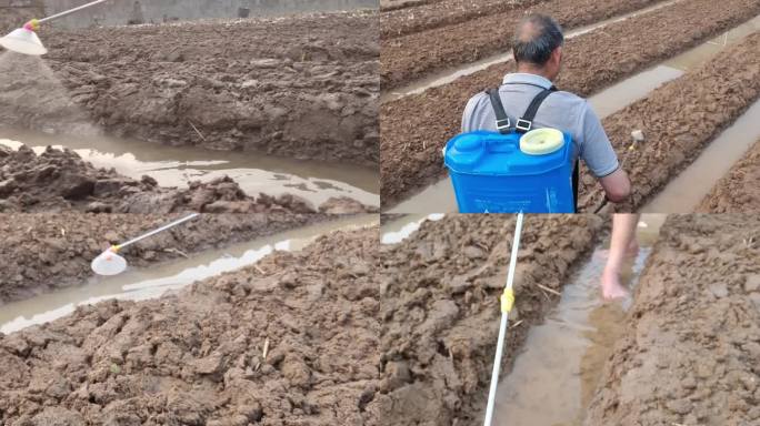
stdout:
[[(559, 301), (537, 284), (561, 291), (600, 225), (592, 215), (526, 219), (504, 374), (528, 329)], [(452, 215), (381, 248), (381, 381), (372, 404), (384, 424), (481, 420), (513, 231), (514, 216)]]

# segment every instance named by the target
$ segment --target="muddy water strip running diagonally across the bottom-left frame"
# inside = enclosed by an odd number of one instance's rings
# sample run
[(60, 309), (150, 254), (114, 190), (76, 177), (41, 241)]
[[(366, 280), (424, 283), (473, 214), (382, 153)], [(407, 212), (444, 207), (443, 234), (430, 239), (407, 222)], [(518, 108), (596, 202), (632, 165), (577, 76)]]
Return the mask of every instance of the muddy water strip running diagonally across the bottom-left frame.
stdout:
[(320, 223), (263, 239), (210, 250), (189, 258), (149, 268), (128, 268), (121, 275), (93, 276), (77, 287), (9, 303), (0, 308), (0, 333), (12, 333), (33, 324), (60, 318), (82, 304), (108, 298), (140, 301), (159, 297), (196, 281), (253, 265), (274, 251), (300, 251), (314, 239), (331, 231), (377, 225), (377, 215), (360, 215)]

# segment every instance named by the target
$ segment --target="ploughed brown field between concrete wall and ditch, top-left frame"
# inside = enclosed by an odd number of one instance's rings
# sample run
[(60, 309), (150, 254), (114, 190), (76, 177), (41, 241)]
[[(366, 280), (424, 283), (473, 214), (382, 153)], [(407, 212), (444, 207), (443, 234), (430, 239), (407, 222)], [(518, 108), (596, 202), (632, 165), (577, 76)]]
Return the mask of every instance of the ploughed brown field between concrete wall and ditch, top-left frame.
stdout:
[(42, 29), (40, 37), (50, 50), (44, 62), (0, 59), (2, 121), (60, 131), (92, 123), (172, 145), (378, 162), (377, 13)]

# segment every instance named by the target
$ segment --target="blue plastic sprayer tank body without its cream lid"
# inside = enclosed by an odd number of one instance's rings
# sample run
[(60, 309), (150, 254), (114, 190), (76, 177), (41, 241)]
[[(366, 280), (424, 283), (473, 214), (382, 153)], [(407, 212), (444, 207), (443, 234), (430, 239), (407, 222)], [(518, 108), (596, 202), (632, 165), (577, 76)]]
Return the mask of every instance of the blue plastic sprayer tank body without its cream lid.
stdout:
[(529, 155), (521, 134), (462, 133), (444, 149), (460, 213), (574, 213), (572, 139), (559, 150)]

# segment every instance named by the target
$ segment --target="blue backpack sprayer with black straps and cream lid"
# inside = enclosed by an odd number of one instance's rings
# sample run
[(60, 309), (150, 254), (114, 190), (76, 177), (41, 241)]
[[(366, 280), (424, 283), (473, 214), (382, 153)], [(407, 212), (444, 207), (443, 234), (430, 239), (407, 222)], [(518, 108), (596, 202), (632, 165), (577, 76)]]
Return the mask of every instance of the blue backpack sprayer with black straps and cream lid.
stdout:
[(460, 213), (574, 213), (578, 166), (572, 138), (556, 129), (533, 129), (546, 89), (512, 122), (498, 89), (487, 91), (497, 132), (451, 139), (443, 151)]

